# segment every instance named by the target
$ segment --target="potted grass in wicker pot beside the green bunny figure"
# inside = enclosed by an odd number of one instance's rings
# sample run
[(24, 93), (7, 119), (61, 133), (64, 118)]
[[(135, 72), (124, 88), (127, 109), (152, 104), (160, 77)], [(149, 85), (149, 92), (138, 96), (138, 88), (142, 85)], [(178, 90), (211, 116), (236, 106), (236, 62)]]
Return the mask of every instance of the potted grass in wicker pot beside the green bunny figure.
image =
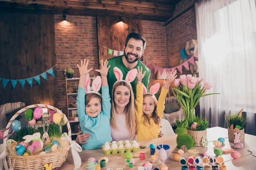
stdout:
[(202, 138), (203, 136), (207, 136), (206, 129), (209, 125), (209, 122), (201, 116), (193, 116), (192, 118), (187, 119), (187, 121), (187, 134), (192, 136), (192, 138), (196, 142), (195, 146), (203, 146)]

